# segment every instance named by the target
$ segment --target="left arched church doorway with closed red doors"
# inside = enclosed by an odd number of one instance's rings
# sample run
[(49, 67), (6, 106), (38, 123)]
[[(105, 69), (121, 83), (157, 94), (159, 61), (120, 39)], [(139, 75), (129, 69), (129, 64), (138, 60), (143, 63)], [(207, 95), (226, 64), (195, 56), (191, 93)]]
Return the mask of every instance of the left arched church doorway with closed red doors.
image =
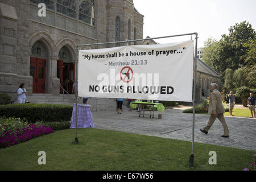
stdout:
[(38, 40), (32, 46), (30, 56), (30, 76), (33, 77), (33, 93), (46, 92), (46, 58), (46, 48)]

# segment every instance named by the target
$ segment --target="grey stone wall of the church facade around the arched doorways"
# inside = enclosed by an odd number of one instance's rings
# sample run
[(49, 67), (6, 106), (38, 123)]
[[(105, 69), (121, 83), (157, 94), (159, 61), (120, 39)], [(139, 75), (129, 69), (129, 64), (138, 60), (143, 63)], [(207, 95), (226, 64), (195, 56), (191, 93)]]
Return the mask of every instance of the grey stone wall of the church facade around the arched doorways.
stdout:
[[(134, 27), (137, 28), (137, 39), (143, 38), (143, 15), (134, 10), (132, 0), (94, 2), (95, 26), (91, 26), (64, 15), (54, 15), (51, 10), (47, 10), (46, 17), (40, 18), (37, 15), (37, 7), (28, 0), (0, 0), (0, 93), (10, 93), (13, 100), (16, 100), (19, 84), (24, 82), (27, 94), (32, 94), (30, 55), (33, 44), (38, 40), (47, 51), (46, 93), (58, 95), (59, 78), (56, 72), (61, 47), (68, 47), (72, 60), (75, 61), (77, 45), (113, 42), (117, 15), (121, 20), (120, 40), (128, 39), (129, 19), (131, 39), (134, 39)], [(61, 24), (61, 18), (64, 24)], [(108, 46), (81, 48), (105, 47)]]

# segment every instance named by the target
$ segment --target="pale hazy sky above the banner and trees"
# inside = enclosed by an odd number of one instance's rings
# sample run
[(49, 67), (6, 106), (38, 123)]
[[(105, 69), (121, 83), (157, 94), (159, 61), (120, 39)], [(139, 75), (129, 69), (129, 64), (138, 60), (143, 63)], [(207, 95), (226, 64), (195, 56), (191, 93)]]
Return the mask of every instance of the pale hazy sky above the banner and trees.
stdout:
[[(220, 40), (236, 23), (246, 20), (256, 28), (256, 0), (133, 0), (133, 3), (144, 15), (143, 38), (197, 32), (197, 47), (204, 47), (208, 38)], [(191, 36), (155, 39), (155, 42), (184, 40), (191, 40)]]

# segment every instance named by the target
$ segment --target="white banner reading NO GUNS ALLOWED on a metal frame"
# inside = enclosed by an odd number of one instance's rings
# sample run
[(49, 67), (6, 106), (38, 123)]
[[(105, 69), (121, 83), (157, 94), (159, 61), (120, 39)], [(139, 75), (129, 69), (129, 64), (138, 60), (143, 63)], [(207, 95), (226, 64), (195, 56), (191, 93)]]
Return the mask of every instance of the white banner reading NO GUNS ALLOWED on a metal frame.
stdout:
[(192, 102), (193, 41), (79, 51), (80, 97)]

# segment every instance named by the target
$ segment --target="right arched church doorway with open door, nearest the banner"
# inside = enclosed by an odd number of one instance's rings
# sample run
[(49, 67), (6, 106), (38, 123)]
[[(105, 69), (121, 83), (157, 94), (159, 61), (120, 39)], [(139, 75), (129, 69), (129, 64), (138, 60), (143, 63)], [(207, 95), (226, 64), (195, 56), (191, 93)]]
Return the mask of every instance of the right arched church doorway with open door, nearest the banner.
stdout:
[[(66, 46), (62, 47), (59, 52), (57, 78), (60, 79), (61, 87), (67, 90), (69, 94), (72, 94), (73, 83), (75, 81), (75, 63), (73, 63), (71, 53)], [(60, 93), (63, 93), (63, 89), (60, 88)]]

